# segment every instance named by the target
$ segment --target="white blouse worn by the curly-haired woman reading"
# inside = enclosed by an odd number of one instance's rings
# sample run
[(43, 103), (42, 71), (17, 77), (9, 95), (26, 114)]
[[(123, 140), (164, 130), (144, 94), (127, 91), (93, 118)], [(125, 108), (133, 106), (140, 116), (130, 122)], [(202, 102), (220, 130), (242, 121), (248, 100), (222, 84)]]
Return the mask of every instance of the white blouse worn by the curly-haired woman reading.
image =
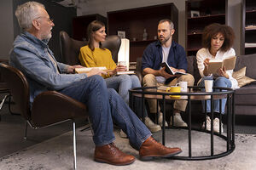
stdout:
[[(198, 70), (199, 70), (201, 77), (205, 77), (205, 75), (203, 73), (203, 71), (205, 69), (205, 65), (203, 64), (205, 59), (208, 58), (208, 59), (222, 59), (223, 60), (223, 59), (228, 59), (230, 57), (233, 57), (235, 55), (236, 55), (235, 50), (233, 48), (230, 48), (226, 52), (218, 50), (216, 56), (213, 58), (212, 54), (210, 54), (210, 52), (207, 48), (201, 48), (200, 50), (198, 50), (198, 52), (196, 54), (197, 66), (198, 66)], [(235, 78), (232, 77), (233, 70), (229, 70), (226, 72), (229, 75), (230, 82), (232, 83), (231, 88), (233, 88), (233, 89), (239, 88), (238, 82), (236, 81)]]

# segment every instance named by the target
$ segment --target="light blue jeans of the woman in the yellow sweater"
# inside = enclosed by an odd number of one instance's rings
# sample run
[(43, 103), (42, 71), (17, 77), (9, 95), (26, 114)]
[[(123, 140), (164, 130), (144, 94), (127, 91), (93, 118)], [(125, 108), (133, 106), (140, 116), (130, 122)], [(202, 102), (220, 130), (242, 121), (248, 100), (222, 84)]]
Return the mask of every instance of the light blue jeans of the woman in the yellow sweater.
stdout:
[[(116, 77), (108, 77), (105, 79), (107, 83), (107, 88), (115, 89), (122, 99), (125, 100), (125, 103), (129, 105), (129, 89), (131, 88), (140, 88), (141, 82), (139, 81), (136, 75), (119, 75)], [(143, 117), (142, 107), (143, 102), (141, 99), (135, 99), (134, 102), (134, 111), (138, 117)], [(147, 110), (144, 111), (144, 116), (148, 116)]]

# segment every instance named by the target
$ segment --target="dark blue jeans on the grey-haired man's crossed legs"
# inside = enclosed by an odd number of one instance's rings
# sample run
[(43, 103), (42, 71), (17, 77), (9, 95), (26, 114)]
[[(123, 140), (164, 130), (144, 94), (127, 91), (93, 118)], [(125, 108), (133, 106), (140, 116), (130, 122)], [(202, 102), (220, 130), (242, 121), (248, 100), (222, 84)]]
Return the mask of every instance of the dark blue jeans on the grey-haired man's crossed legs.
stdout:
[(96, 146), (113, 142), (113, 122), (123, 129), (137, 149), (152, 135), (119, 94), (107, 88), (104, 79), (98, 75), (74, 82), (59, 92), (87, 105)]

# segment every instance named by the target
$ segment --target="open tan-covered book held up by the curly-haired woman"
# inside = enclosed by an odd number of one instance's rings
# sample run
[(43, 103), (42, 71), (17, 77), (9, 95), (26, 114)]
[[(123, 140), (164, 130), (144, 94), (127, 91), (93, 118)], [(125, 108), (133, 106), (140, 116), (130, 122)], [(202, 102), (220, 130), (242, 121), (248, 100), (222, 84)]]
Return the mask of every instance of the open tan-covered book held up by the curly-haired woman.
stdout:
[(226, 71), (233, 70), (236, 65), (236, 56), (232, 56), (228, 59), (210, 59), (209, 60), (209, 73), (217, 73), (219, 68), (225, 66)]

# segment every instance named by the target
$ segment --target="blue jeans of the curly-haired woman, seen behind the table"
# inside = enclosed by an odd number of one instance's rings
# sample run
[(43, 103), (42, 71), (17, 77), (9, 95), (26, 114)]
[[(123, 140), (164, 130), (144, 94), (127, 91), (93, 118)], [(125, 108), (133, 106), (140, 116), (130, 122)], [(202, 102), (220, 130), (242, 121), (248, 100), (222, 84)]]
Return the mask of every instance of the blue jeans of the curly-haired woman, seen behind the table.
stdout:
[[(202, 77), (201, 82), (199, 83), (199, 86), (204, 87), (205, 81), (204, 80), (213, 80), (212, 77)], [(225, 77), (217, 77), (215, 80), (213, 80), (213, 87), (219, 87), (219, 88), (231, 88), (232, 84), (229, 79)], [(203, 92), (205, 92), (205, 89), (202, 89)], [(214, 89), (214, 92), (219, 92), (219, 89)], [(213, 111), (224, 114), (225, 111), (225, 105), (226, 105), (227, 99), (221, 99), (221, 111), (219, 111), (219, 99), (215, 99), (213, 101)], [(202, 107), (203, 111), (205, 111), (205, 101), (202, 101)], [(211, 112), (211, 100), (207, 99), (207, 112)]]

